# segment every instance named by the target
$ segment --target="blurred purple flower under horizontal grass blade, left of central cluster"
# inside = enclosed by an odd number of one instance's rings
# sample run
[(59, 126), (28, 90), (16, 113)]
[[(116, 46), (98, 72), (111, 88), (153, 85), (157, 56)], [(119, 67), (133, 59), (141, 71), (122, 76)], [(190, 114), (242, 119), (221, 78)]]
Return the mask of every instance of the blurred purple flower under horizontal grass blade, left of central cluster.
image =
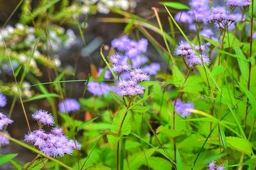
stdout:
[(111, 87), (104, 82), (99, 83), (95, 81), (89, 81), (87, 89), (94, 96), (104, 96), (108, 94), (108, 92), (111, 90)]

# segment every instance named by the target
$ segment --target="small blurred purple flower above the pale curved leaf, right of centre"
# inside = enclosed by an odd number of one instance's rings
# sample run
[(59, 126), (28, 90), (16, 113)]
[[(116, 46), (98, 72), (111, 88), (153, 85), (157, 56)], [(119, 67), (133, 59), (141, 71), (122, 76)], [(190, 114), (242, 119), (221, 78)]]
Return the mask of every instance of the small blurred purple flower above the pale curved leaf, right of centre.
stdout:
[(188, 117), (191, 112), (187, 111), (186, 109), (194, 109), (194, 106), (192, 103), (183, 103), (180, 101), (180, 99), (177, 99), (175, 102), (174, 110), (176, 111), (177, 114), (180, 115), (180, 117)]

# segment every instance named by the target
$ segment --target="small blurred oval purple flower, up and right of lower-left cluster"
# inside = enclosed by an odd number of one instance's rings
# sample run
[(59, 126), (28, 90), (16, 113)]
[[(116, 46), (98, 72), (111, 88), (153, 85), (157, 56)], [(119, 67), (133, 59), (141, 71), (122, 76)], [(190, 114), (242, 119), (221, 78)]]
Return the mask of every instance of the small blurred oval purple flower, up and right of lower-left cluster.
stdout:
[(80, 104), (76, 99), (67, 98), (59, 103), (59, 110), (62, 113), (70, 111), (78, 111), (80, 109)]

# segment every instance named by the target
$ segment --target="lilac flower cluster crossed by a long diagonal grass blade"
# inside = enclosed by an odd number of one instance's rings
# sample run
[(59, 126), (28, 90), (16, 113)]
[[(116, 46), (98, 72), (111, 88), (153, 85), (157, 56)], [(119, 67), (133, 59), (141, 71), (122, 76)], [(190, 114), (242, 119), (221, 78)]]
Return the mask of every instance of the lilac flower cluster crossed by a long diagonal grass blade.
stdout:
[(209, 58), (207, 57), (207, 55), (202, 54), (202, 52), (205, 51), (205, 46), (193, 45), (193, 47), (199, 53), (200, 58), (196, 55), (193, 48), (186, 41), (180, 41), (179, 46), (177, 46), (177, 48), (175, 49), (175, 55), (181, 55), (182, 57), (184, 57), (184, 60), (189, 67), (202, 65), (203, 62), (204, 64), (208, 65), (210, 63)]

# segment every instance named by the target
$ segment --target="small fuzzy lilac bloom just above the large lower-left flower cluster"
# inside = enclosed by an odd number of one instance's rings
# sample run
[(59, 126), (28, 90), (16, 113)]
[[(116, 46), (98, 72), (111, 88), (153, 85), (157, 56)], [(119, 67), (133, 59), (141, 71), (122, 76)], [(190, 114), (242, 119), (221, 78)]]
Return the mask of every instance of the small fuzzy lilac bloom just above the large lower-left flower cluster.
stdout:
[(45, 110), (36, 111), (35, 113), (32, 114), (32, 118), (34, 120), (37, 120), (38, 122), (41, 122), (44, 125), (54, 124), (54, 120), (51, 113), (48, 113), (48, 111), (45, 111)]

